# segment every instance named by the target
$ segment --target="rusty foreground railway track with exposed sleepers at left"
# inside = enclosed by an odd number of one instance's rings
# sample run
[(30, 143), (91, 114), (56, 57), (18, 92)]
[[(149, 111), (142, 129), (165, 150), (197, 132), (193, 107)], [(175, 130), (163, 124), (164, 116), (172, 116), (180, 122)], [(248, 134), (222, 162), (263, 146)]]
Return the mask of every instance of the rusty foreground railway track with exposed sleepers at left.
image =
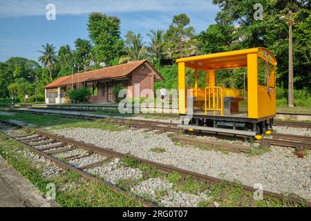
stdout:
[[(95, 180), (97, 182), (102, 182), (109, 186), (113, 191), (117, 191), (120, 193), (123, 193), (124, 195), (131, 195), (131, 193), (127, 193), (124, 191), (124, 189), (115, 186), (109, 182), (106, 182), (102, 179), (99, 179), (92, 175), (91, 173), (88, 173), (88, 169), (94, 168), (95, 166), (100, 166), (107, 162), (108, 160), (113, 159), (114, 157), (117, 157), (119, 159), (123, 159), (126, 157), (131, 157), (134, 160), (137, 160), (141, 164), (148, 165), (148, 166), (154, 166), (156, 169), (159, 169), (163, 172), (176, 172), (180, 173), (182, 176), (189, 176), (191, 175), (194, 177), (195, 180), (199, 180), (200, 182), (205, 182), (209, 184), (217, 184), (220, 182), (225, 182), (226, 184), (229, 184), (230, 186), (236, 187), (238, 184), (234, 182), (229, 182), (226, 180), (222, 180), (216, 177), (211, 177), (208, 175), (203, 175), (200, 173), (196, 173), (193, 171), (187, 171), (185, 169), (180, 169), (175, 166), (169, 166), (165, 164), (160, 164), (158, 162), (152, 162), (149, 160), (142, 159), (140, 157), (135, 157), (133, 155), (119, 153), (116, 151), (113, 151), (109, 148), (100, 148), (93, 144), (86, 144), (84, 142), (77, 142), (72, 139), (68, 139), (66, 137), (46, 133), (43, 131), (39, 131), (34, 128), (28, 128), (25, 126), (19, 126), (17, 124), (14, 124), (12, 122), (7, 122), (5, 120), (0, 120), (0, 126), (1, 126), (1, 134), (8, 137), (10, 140), (15, 140), (16, 142), (19, 142), (20, 144), (23, 144), (26, 148), (28, 148), (30, 151), (33, 151), (37, 153), (38, 155), (41, 155), (45, 157), (48, 160), (51, 160), (52, 162), (55, 162), (58, 166), (68, 169), (70, 171), (75, 171), (76, 173), (79, 173), (82, 177), (86, 178), (87, 180)], [(4, 129), (3, 129), (4, 128)], [(44, 148), (39, 148), (44, 144)], [(69, 146), (69, 147), (68, 147)], [(81, 159), (82, 157), (88, 157), (90, 155), (102, 155), (106, 157), (105, 160), (101, 160), (99, 162), (94, 162), (92, 164), (84, 165), (84, 166), (75, 166), (72, 164), (68, 164), (68, 162), (65, 162), (64, 159), (59, 159), (57, 157), (57, 154), (64, 153), (67, 151), (71, 151), (75, 148), (83, 149), (84, 151), (87, 151), (86, 155), (72, 155), (70, 157), (66, 157), (65, 160), (73, 160), (73, 159)], [(124, 186), (131, 186), (131, 182), (124, 184)], [(251, 186), (246, 185), (240, 185), (239, 186), (243, 189), (243, 191), (248, 193), (255, 193), (257, 190), (252, 188)], [(263, 191), (264, 196), (276, 198), (277, 200), (280, 200), (281, 202), (292, 202), (296, 204), (305, 204), (305, 206), (311, 207), (311, 202), (308, 202), (302, 198), (296, 198), (292, 197), (291, 195), (285, 196), (281, 195), (279, 193), (272, 193), (270, 191)], [(144, 206), (156, 206), (156, 204), (153, 204), (152, 202), (147, 202), (143, 200), (142, 198), (135, 196), (136, 200), (138, 202), (141, 202)]]

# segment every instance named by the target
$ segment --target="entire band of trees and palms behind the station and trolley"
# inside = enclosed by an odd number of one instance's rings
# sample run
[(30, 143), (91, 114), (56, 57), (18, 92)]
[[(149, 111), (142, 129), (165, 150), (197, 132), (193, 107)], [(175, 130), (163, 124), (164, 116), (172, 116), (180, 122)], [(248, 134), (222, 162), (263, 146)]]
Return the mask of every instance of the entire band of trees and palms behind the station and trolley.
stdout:
[[(213, 0), (220, 8), (216, 23), (196, 33), (185, 14), (175, 15), (167, 30), (151, 30), (149, 41), (140, 33), (129, 31), (122, 39), (121, 21), (98, 12), (88, 17), (88, 39), (77, 39), (75, 48), (65, 45), (57, 51), (53, 44), (42, 46), (41, 57), (32, 61), (12, 57), (0, 62), (0, 97), (23, 97), (44, 93), (44, 85), (57, 77), (94, 70), (104, 66), (149, 59), (165, 78), (156, 89), (178, 87), (178, 57), (263, 46), (276, 55), (278, 104), (287, 103), (288, 23), (279, 17), (294, 13), (294, 97), (297, 106), (310, 106), (311, 91), (311, 3), (306, 0)], [(263, 20), (254, 19), (254, 5), (263, 6)], [(164, 65), (165, 64), (165, 65)], [(170, 64), (170, 65), (167, 65)], [(243, 88), (243, 69), (219, 70), (217, 84)], [(187, 84), (194, 84), (193, 72), (187, 70)], [(199, 86), (205, 86), (199, 73)], [(41, 96), (42, 97), (42, 96)], [(309, 97), (309, 98), (308, 98)]]

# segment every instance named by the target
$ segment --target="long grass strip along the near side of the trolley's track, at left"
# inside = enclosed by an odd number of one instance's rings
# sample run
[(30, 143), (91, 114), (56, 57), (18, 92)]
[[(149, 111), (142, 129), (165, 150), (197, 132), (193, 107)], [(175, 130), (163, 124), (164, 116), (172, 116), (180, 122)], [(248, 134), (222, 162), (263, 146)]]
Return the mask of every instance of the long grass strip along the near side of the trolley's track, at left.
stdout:
[(98, 128), (106, 131), (122, 131), (126, 126), (118, 126), (109, 119), (95, 121), (62, 117), (61, 115), (35, 115), (32, 113), (16, 113), (12, 116), (0, 115), (0, 119), (15, 119), (26, 124), (35, 124), (37, 127), (49, 127), (50, 129), (62, 128)]

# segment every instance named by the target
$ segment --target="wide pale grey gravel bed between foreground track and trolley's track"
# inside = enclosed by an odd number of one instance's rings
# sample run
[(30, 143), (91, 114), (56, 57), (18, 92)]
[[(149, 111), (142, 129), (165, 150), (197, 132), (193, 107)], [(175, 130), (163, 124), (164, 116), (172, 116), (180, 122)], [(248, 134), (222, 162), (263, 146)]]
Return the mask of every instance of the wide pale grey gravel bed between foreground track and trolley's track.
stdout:
[[(311, 156), (301, 159), (292, 148), (272, 146), (263, 155), (249, 157), (242, 153), (202, 151), (188, 145), (178, 145), (167, 134), (138, 131), (102, 131), (94, 128), (67, 128), (54, 131), (75, 140), (112, 148), (122, 153), (171, 164), (182, 169), (211, 175), (253, 186), (262, 184), (267, 191), (296, 193), (311, 200)], [(154, 153), (151, 148), (164, 148)]]

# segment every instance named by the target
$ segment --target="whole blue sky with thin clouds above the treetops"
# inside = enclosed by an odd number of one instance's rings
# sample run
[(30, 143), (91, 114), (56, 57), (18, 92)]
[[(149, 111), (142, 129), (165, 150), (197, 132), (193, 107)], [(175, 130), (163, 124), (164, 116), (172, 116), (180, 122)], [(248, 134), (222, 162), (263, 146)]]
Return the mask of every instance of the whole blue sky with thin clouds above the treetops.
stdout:
[[(56, 20), (46, 19), (46, 5), (56, 6)], [(173, 15), (187, 13), (196, 32), (215, 23), (217, 6), (211, 0), (1, 0), (0, 61), (10, 57), (37, 60), (42, 44), (59, 46), (77, 38), (88, 39), (86, 23), (91, 12), (121, 19), (122, 37), (128, 30), (140, 32), (148, 41), (151, 29), (166, 30)]]

